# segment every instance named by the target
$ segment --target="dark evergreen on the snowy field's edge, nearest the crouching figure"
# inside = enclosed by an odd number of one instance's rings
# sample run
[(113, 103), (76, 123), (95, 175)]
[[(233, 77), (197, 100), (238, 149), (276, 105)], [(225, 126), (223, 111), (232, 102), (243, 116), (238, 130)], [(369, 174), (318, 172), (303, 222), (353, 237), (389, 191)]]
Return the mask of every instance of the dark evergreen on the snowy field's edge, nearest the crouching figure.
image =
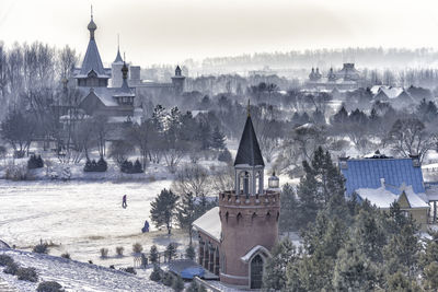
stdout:
[(168, 234), (171, 234), (177, 200), (177, 195), (164, 188), (155, 200), (151, 202), (152, 222), (155, 223), (155, 227), (164, 225), (168, 229)]

